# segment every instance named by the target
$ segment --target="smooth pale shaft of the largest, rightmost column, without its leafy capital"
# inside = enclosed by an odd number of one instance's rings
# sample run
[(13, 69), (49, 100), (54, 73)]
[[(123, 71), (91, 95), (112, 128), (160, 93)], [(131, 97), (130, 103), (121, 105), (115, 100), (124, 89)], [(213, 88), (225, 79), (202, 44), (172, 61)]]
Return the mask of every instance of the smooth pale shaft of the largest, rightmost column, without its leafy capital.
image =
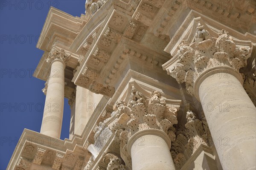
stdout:
[(195, 85), (223, 169), (255, 169), (256, 108), (232, 71), (213, 70)]

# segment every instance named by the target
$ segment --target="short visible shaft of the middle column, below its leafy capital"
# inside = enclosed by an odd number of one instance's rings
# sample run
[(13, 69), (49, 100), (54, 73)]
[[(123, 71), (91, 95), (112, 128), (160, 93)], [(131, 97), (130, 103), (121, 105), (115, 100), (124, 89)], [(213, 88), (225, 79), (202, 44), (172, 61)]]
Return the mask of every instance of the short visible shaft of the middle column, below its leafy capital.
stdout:
[(135, 133), (128, 142), (133, 170), (175, 170), (166, 133), (146, 129)]

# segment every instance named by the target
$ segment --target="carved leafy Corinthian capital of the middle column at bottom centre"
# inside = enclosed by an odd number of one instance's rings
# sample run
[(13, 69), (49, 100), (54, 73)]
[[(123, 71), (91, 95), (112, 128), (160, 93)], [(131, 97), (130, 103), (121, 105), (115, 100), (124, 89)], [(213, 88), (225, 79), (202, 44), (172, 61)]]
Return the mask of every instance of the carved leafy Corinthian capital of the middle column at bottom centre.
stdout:
[(116, 108), (119, 118), (111, 125), (112, 131), (127, 131), (130, 138), (140, 130), (158, 129), (165, 132), (171, 141), (175, 140), (173, 125), (177, 124), (177, 108), (167, 106), (160, 92), (153, 91), (151, 98), (147, 99), (133, 87), (128, 104), (120, 101)]

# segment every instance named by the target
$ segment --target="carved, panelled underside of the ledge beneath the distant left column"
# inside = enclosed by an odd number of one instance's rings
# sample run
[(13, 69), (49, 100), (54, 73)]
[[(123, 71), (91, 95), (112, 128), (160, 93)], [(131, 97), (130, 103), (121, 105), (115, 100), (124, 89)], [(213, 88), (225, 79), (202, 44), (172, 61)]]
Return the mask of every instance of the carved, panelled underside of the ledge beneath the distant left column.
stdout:
[[(59, 146), (58, 141), (51, 140), (53, 146)], [(88, 152), (87, 155), (84, 155), (84, 151), (81, 147), (76, 147), (74, 151), (66, 150), (63, 152), (56, 148), (45, 147), (44, 145), (38, 147), (34, 142), (26, 142), (25, 147), (21, 151), (22, 157), (19, 158), (13, 169), (29, 170), (33, 163), (43, 164), (43, 166), (51, 167), (54, 170), (81, 170), (89, 161), (90, 156)]]

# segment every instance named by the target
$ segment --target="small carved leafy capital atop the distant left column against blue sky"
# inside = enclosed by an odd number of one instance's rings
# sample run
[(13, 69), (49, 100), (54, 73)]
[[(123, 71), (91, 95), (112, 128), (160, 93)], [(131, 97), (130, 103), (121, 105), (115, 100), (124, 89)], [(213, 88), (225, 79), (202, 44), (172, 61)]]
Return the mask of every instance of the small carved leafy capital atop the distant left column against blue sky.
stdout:
[(67, 64), (67, 61), (70, 59), (71, 54), (66, 54), (64, 49), (58, 49), (56, 47), (53, 47), (52, 50), (49, 52), (49, 56), (46, 59), (46, 62), (51, 64), (54, 60), (61, 60), (65, 64)]

